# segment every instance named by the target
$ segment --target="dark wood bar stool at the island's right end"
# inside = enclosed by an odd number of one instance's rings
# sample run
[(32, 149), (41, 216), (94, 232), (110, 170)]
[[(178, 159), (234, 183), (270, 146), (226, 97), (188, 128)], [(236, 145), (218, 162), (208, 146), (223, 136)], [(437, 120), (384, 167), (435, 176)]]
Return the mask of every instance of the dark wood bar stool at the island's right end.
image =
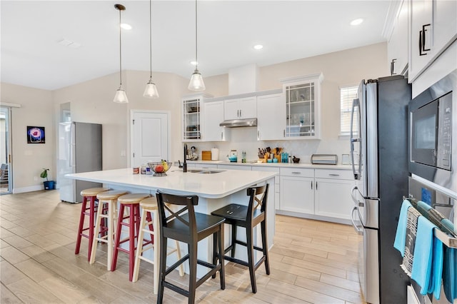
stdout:
[[(266, 201), (268, 196), (268, 184), (265, 186), (248, 188), (247, 195), (249, 196), (248, 206), (233, 203), (229, 206), (213, 211), (211, 214), (213, 216), (225, 218), (226, 223), (231, 225), (231, 245), (224, 250), (224, 258), (233, 263), (245, 265), (249, 268), (252, 292), (256, 293), (256, 269), (261, 265), (261, 263), (265, 263), (266, 274), (270, 274), (268, 245), (266, 243)], [(253, 228), (259, 223), (261, 225), (262, 248), (253, 245)], [(236, 239), (236, 228), (238, 227), (246, 228), (246, 242)], [(246, 246), (248, 250), (248, 262), (235, 258), (236, 244)], [(257, 263), (254, 261), (254, 249), (262, 252), (262, 257)], [(225, 253), (230, 250), (231, 255), (225, 255)]]

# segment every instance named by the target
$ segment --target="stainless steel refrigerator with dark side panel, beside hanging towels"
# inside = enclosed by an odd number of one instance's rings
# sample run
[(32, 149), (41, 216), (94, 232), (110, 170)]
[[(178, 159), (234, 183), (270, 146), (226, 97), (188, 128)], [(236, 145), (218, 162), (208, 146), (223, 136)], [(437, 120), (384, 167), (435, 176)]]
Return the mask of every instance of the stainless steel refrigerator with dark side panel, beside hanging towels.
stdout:
[(408, 193), (408, 103), (403, 76), (362, 81), (353, 101), (351, 158), (357, 186), (351, 218), (363, 243), (358, 273), (368, 303), (406, 303), (408, 277), (393, 248), (402, 196)]

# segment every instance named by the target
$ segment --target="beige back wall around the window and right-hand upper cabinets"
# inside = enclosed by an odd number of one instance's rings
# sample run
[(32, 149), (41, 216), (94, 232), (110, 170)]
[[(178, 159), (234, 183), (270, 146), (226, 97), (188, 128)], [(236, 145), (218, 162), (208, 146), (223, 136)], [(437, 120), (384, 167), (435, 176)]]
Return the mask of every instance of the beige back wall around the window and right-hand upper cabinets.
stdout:
[[(231, 129), (230, 142), (197, 143), (199, 151), (219, 148), (221, 158), (231, 149), (246, 151), (246, 158), (257, 158), (257, 148), (279, 146), (285, 151), (301, 158), (301, 162), (310, 162), (313, 153), (341, 154), (349, 153), (347, 138), (339, 137), (340, 97), (339, 87), (358, 85), (362, 79), (388, 76), (387, 44), (372, 44), (356, 49), (348, 49), (306, 59), (288, 61), (281, 64), (260, 67), (258, 91), (282, 88), (281, 78), (323, 73), (321, 83), (321, 140), (257, 141), (256, 128)], [(205, 78), (205, 81), (207, 78)], [(227, 86), (228, 81), (221, 81), (220, 86)], [(215, 95), (215, 96), (224, 96)]]

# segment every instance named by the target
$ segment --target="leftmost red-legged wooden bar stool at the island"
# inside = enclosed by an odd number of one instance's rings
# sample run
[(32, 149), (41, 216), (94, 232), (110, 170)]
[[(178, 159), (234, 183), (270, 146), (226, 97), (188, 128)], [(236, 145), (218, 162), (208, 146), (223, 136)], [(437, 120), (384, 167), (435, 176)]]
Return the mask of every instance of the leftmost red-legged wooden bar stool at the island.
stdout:
[[(79, 254), (79, 248), (81, 248), (81, 237), (89, 238), (89, 252), (87, 253), (87, 260), (91, 259), (91, 250), (92, 243), (94, 241), (94, 220), (95, 213), (97, 212), (95, 206), (95, 200), (97, 194), (109, 191), (109, 188), (89, 188), (81, 191), (81, 196), (83, 197), (83, 202), (81, 205), (81, 216), (79, 217), (79, 228), (78, 228), (78, 238), (76, 238), (76, 249), (74, 254)], [(87, 201), (89, 201), (89, 206), (87, 206)], [(89, 226), (84, 228), (84, 219), (86, 216), (89, 216)], [(88, 234), (85, 234), (84, 231), (89, 230)]]

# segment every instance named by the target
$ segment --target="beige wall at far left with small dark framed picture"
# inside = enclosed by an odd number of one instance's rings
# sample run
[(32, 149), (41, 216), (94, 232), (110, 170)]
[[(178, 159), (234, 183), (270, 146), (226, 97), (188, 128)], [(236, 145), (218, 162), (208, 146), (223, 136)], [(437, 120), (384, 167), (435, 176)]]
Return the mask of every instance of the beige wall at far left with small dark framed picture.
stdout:
[[(50, 169), (49, 180), (56, 178), (56, 129), (52, 93), (1, 83), (1, 102), (21, 105), (21, 108), (11, 110), (11, 172), (14, 188), (21, 191), (38, 190), (43, 187), (43, 179), (39, 177), (43, 168)], [(27, 143), (27, 126), (44, 126), (46, 143)]]

